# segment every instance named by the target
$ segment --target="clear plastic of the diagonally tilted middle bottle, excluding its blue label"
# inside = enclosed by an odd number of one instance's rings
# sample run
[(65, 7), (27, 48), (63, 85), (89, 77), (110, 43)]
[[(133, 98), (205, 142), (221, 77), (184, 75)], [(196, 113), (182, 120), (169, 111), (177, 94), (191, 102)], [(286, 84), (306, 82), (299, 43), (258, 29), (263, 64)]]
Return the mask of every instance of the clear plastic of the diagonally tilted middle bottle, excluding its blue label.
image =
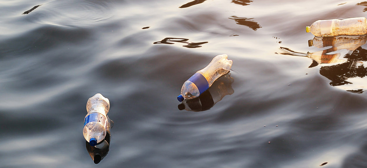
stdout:
[[(208, 82), (208, 87), (210, 87), (212, 83), (220, 76), (229, 72), (230, 68), (232, 67), (232, 60), (228, 60), (227, 58), (228, 55), (226, 54), (217, 55), (208, 64), (208, 66), (196, 72), (205, 77)], [(186, 81), (183, 83), (181, 88), (181, 96), (184, 99), (193, 99), (199, 97), (199, 95), (200, 92), (198, 86), (196, 86), (195, 83), (192, 81)]]

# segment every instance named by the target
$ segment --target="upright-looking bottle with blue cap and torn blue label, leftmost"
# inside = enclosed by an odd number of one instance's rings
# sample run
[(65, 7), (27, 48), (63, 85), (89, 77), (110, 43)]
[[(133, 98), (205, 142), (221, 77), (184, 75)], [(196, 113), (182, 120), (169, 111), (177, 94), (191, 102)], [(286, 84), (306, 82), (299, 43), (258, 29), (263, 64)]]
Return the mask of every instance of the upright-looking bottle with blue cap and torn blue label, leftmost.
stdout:
[(108, 98), (97, 93), (88, 99), (87, 116), (84, 118), (83, 135), (91, 146), (97, 145), (105, 139), (107, 113), (110, 109)]

